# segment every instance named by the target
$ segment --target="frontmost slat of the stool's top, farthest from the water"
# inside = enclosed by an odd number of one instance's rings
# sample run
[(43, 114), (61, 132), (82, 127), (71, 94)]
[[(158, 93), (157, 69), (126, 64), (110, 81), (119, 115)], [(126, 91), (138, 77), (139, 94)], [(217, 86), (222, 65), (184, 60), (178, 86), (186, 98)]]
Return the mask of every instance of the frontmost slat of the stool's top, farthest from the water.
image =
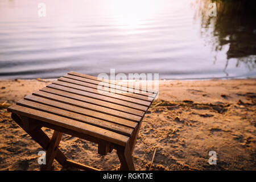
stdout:
[(87, 134), (92, 137), (100, 138), (102, 140), (107, 140), (121, 146), (126, 146), (127, 142), (129, 141), (129, 137), (125, 135), (24, 106), (12, 105), (8, 107), (8, 111), (11, 113), (24, 115), (29, 118), (38, 119), (39, 121), (52, 123), (53, 125), (62, 126), (67, 129), (71, 129), (82, 134)]

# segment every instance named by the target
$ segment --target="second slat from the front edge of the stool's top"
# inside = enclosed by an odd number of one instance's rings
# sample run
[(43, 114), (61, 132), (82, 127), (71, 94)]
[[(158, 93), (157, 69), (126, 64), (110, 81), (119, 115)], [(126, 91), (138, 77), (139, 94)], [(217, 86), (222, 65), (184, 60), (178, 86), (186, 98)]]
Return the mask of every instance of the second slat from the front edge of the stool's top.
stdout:
[[(75, 106), (70, 107), (70, 105), (63, 104), (63, 105), (61, 105), (61, 108), (68, 109), (68, 110), (63, 110), (63, 109), (59, 109), (57, 107), (45, 105), (48, 103), (51, 103), (52, 105), (54, 105), (54, 102), (51, 102), (51, 100), (46, 100), (44, 98), (42, 99), (40, 97), (38, 98), (36, 96), (28, 96), (26, 99), (27, 100), (18, 101), (17, 105), (22, 105), (25, 107), (30, 107), (31, 109), (37, 109), (37, 110), (41, 110), (41, 111), (44, 111), (47, 113), (60, 115), (61, 117), (66, 117), (69, 119), (74, 119), (76, 121), (80, 121), (80, 122), (84, 122), (84, 123), (87, 123), (87, 124), (90, 124), (93, 126), (101, 127), (103, 129), (114, 131), (116, 133), (126, 135), (128, 137), (130, 137), (131, 134), (133, 133), (133, 129), (130, 128), (131, 126), (133, 126), (133, 123), (128, 123), (129, 127), (126, 127), (123, 125), (117, 125), (115, 123), (106, 122), (106, 121), (102, 121), (101, 119), (92, 118), (92, 117), (83, 115), (83, 113), (82, 113), (83, 109), (81, 109), (80, 107), (78, 107), (78, 108), (76, 108)], [(40, 100), (43, 100), (46, 103), (40, 104), (39, 102), (34, 102), (34, 101), (40, 101)], [(76, 109), (77, 109), (77, 113), (73, 113), (72, 110), (76, 110)]]

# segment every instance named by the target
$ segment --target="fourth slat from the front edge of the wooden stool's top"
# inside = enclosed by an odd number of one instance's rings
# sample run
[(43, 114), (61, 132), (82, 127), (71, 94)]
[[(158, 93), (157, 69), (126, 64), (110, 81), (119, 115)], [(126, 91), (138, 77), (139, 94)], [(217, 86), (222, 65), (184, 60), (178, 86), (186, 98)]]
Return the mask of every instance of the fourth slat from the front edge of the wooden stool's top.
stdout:
[[(34, 92), (33, 95), (48, 98), (50, 100), (62, 102), (62, 103), (65, 103), (65, 104), (70, 104), (70, 105), (82, 107), (84, 109), (92, 110), (92, 111), (94, 111), (94, 115), (102, 113), (102, 114), (105, 115), (105, 118), (101, 118), (101, 119), (105, 119), (105, 120), (108, 119), (108, 117), (109, 118), (110, 117), (115, 117), (115, 118), (122, 118), (122, 119), (130, 120), (130, 121), (139, 122), (139, 121), (141, 121), (141, 118), (142, 118), (142, 117), (139, 117), (138, 115), (123, 113), (122, 111), (108, 109), (106, 107), (101, 107), (101, 106), (89, 104), (89, 103), (86, 103), (86, 102), (73, 100), (72, 98), (58, 96), (56, 94), (51, 94), (51, 93), (43, 92), (43, 91), (40, 91), (40, 90)], [(61, 104), (61, 103), (59, 103), (59, 104)]]

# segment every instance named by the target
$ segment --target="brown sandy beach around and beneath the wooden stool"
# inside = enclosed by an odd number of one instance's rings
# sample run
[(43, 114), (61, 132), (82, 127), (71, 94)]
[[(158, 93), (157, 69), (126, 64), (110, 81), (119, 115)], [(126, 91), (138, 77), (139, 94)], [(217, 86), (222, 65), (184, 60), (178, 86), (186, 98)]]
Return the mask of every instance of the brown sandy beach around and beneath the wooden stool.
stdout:
[[(38, 80), (0, 81), (0, 102), (14, 104), (48, 85)], [(160, 81), (159, 99), (148, 110), (133, 152), (135, 168), (147, 170), (256, 170), (256, 80)], [(44, 129), (48, 135), (49, 129)], [(97, 145), (64, 135), (68, 158), (99, 169), (115, 170), (115, 151), (101, 156)], [(0, 109), (0, 170), (38, 170), (42, 150)], [(217, 164), (209, 165), (209, 151)], [(54, 162), (53, 169), (61, 166)]]

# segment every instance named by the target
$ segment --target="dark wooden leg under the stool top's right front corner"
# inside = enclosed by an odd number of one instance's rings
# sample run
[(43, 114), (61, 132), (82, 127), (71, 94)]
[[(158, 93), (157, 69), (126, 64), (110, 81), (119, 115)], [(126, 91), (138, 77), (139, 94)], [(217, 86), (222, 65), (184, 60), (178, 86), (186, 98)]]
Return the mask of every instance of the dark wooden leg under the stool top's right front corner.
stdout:
[(131, 155), (129, 144), (127, 144), (126, 147), (118, 146), (117, 155), (121, 162), (120, 170), (123, 170), (123, 171), (135, 170), (134, 163), (133, 163), (133, 156)]

